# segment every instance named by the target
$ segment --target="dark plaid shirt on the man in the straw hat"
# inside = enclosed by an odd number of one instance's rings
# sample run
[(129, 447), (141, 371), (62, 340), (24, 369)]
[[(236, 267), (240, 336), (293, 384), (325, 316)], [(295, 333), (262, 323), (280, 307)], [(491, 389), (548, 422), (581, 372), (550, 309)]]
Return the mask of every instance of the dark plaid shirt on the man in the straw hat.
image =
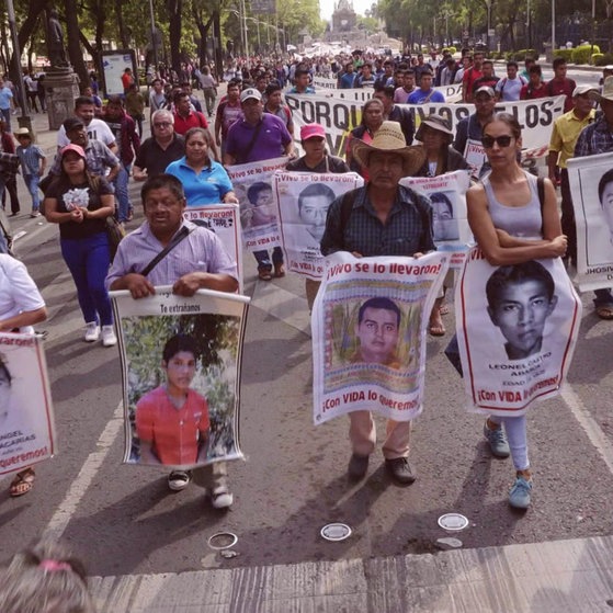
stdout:
[(381, 223), (367, 188), (356, 190), (351, 214), (343, 226), (343, 196), (328, 209), (321, 253), (357, 252), (364, 257), (405, 256), (433, 251), (432, 207), (430, 200), (413, 190), (399, 186), (387, 222)]

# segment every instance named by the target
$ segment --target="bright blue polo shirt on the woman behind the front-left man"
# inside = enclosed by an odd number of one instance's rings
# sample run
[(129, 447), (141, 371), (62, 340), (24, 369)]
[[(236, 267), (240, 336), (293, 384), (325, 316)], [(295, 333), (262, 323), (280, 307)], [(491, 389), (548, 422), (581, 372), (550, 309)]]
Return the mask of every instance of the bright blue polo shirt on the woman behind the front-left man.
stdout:
[(224, 196), (232, 191), (232, 184), (226, 169), (213, 160), (211, 160), (208, 168), (203, 168), (196, 174), (183, 156), (180, 160), (169, 163), (166, 172), (177, 177), (183, 183), (188, 206), (219, 204)]

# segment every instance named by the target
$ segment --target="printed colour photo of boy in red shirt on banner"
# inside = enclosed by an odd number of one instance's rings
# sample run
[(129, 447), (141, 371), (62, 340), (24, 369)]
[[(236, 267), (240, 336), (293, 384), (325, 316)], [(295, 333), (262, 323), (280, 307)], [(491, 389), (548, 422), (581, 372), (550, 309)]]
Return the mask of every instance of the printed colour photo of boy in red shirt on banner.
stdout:
[(129, 463), (189, 467), (237, 453), (239, 326), (213, 314), (122, 319)]

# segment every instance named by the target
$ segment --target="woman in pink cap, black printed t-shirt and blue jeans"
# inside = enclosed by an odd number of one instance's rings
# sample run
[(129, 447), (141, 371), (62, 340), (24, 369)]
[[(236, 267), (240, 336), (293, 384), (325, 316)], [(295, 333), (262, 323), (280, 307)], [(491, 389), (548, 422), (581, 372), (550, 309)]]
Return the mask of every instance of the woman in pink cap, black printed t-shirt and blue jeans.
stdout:
[(59, 155), (61, 171), (45, 194), (45, 216), (59, 224), (61, 256), (77, 286), (86, 342), (102, 334), (103, 347), (112, 347), (117, 339), (104, 277), (111, 263), (106, 217), (115, 213), (113, 190), (103, 177), (88, 171), (78, 145), (67, 145)]

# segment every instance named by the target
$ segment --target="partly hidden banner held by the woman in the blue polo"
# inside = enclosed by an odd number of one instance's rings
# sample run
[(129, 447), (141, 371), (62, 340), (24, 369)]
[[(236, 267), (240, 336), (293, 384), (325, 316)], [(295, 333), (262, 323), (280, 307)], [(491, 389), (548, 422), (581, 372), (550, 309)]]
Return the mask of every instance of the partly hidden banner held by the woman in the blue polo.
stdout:
[(214, 231), (222, 240), (226, 251), (236, 262), (238, 293), (242, 294), (242, 240), (238, 204), (206, 204), (188, 206), (183, 217), (198, 226)]

